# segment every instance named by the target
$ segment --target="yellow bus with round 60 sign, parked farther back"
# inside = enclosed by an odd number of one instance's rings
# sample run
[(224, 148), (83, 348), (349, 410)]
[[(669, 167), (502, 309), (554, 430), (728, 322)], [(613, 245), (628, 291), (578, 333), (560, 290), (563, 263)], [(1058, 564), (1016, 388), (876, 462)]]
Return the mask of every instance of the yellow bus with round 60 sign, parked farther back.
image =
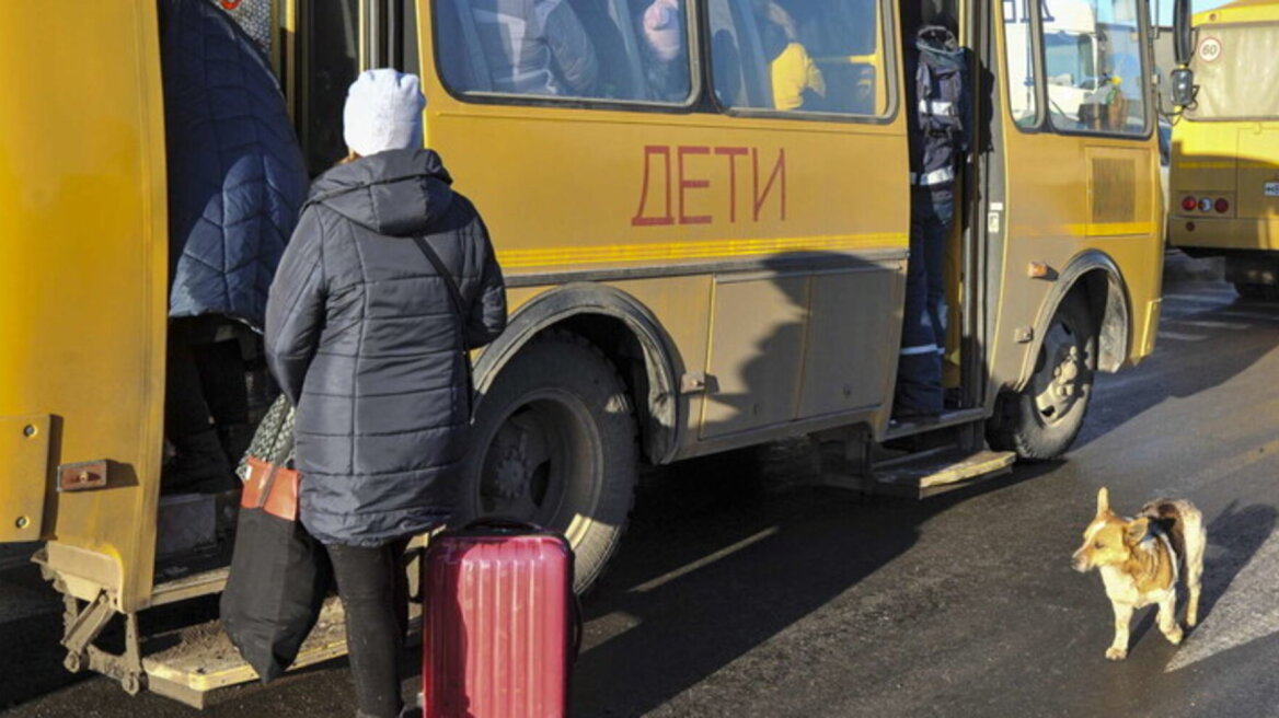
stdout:
[(1279, 299), (1279, 3), (1195, 15), (1195, 101), (1173, 126), (1169, 238), (1225, 257), (1227, 280)]

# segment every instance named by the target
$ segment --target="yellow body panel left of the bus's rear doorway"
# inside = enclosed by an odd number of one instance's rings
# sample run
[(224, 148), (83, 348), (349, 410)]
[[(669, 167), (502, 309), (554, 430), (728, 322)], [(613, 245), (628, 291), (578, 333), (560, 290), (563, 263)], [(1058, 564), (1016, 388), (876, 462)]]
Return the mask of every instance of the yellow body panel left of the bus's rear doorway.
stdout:
[[(59, 590), (95, 618), (152, 598), (168, 300), (157, 56), (153, 4), (0, 8), (0, 540), (46, 540)], [(38, 74), (36, 57), (51, 57)]]

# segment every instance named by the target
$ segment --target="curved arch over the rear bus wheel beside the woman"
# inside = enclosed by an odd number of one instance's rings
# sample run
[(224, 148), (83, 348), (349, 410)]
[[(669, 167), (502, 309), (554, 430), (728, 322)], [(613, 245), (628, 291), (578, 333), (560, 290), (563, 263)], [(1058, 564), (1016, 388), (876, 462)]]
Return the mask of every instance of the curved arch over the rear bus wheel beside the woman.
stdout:
[(656, 316), (611, 286), (563, 285), (521, 307), (476, 362), (476, 405), (519, 350), (550, 330), (582, 336), (613, 362), (636, 408), (645, 456), (671, 461), (679, 446), (678, 354)]

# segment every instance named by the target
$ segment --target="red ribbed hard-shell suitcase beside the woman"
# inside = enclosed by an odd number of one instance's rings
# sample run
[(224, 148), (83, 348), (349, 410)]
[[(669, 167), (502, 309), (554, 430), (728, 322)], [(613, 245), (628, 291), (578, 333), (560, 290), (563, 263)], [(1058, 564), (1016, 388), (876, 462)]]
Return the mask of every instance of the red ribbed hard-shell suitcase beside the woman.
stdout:
[(477, 521), (431, 539), (423, 574), (426, 718), (568, 714), (581, 629), (563, 537)]

